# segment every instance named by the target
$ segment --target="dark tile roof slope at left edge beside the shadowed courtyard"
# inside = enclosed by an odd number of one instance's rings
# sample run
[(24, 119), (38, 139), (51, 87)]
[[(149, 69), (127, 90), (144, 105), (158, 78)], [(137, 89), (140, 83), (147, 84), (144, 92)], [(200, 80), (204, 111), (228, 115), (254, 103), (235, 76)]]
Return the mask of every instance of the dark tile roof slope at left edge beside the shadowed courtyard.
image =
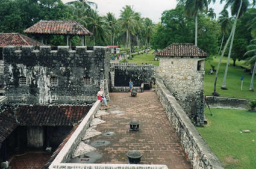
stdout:
[(2, 141), (18, 126), (13, 114), (11, 111), (0, 112), (0, 148)]

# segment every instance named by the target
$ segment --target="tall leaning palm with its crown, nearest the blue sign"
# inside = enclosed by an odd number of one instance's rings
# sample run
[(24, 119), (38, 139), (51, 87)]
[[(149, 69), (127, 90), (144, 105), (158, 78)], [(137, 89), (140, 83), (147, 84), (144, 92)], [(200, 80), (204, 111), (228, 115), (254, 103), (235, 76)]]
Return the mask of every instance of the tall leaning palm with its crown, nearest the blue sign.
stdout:
[[(220, 2), (222, 2), (222, 0)], [(231, 6), (231, 14), (236, 15), (236, 19), (234, 20), (234, 24), (233, 24), (234, 31), (232, 33), (231, 42), (229, 45), (228, 60), (226, 61), (226, 68), (225, 68), (225, 73), (224, 73), (223, 82), (222, 82), (222, 86), (221, 86), (222, 90), (227, 90), (226, 76), (228, 74), (228, 66), (229, 66), (229, 60), (231, 57), (234, 36), (235, 36), (235, 32), (236, 32), (237, 19), (239, 19), (239, 17), (242, 16), (242, 14), (246, 12), (246, 10), (249, 6), (249, 1), (248, 0), (227, 0), (226, 4), (225, 4), (225, 8), (228, 8), (229, 6)]]

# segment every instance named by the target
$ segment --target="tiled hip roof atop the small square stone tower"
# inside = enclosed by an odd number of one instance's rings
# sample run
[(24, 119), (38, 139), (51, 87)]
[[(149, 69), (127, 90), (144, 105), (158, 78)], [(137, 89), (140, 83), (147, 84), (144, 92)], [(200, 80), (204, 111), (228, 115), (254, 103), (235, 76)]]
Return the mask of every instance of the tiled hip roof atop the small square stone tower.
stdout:
[(172, 43), (160, 52), (160, 57), (208, 57), (208, 54), (192, 43)]

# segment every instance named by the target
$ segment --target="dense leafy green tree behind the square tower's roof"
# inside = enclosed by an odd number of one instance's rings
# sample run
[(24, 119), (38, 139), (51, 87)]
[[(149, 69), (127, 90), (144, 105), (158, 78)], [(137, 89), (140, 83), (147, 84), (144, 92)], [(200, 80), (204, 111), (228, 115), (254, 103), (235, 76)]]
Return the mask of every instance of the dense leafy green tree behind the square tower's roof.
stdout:
[[(219, 25), (205, 14), (199, 14), (198, 26), (199, 48), (208, 54), (217, 53), (217, 37), (220, 34)], [(163, 49), (171, 43), (193, 43), (193, 28), (195, 22), (192, 17), (186, 17), (184, 6), (178, 5), (173, 10), (162, 13), (161, 23), (155, 26), (152, 35), (152, 48)]]

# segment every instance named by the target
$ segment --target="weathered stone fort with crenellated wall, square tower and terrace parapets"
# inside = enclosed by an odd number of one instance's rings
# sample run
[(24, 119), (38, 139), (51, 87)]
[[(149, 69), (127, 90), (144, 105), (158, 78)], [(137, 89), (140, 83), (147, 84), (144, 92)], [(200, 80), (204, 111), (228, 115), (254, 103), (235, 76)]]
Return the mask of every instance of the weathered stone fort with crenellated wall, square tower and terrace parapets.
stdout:
[[(195, 125), (204, 125), (204, 64), (208, 55), (195, 45), (173, 43), (157, 56), (159, 66), (110, 64), (110, 49), (101, 46), (2, 48), (5, 97), (0, 102), (0, 121), (7, 131), (0, 137), (2, 162), (8, 153), (24, 152), (24, 147), (43, 147), (50, 152), (53, 147), (55, 152), (45, 168), (166, 168), (68, 163), (97, 117), (99, 88), (103, 87), (111, 99), (108, 93), (128, 91), (132, 79), (137, 92), (155, 84), (155, 93), (193, 168), (222, 168), (195, 129)], [(16, 138), (18, 141), (12, 141)]]

